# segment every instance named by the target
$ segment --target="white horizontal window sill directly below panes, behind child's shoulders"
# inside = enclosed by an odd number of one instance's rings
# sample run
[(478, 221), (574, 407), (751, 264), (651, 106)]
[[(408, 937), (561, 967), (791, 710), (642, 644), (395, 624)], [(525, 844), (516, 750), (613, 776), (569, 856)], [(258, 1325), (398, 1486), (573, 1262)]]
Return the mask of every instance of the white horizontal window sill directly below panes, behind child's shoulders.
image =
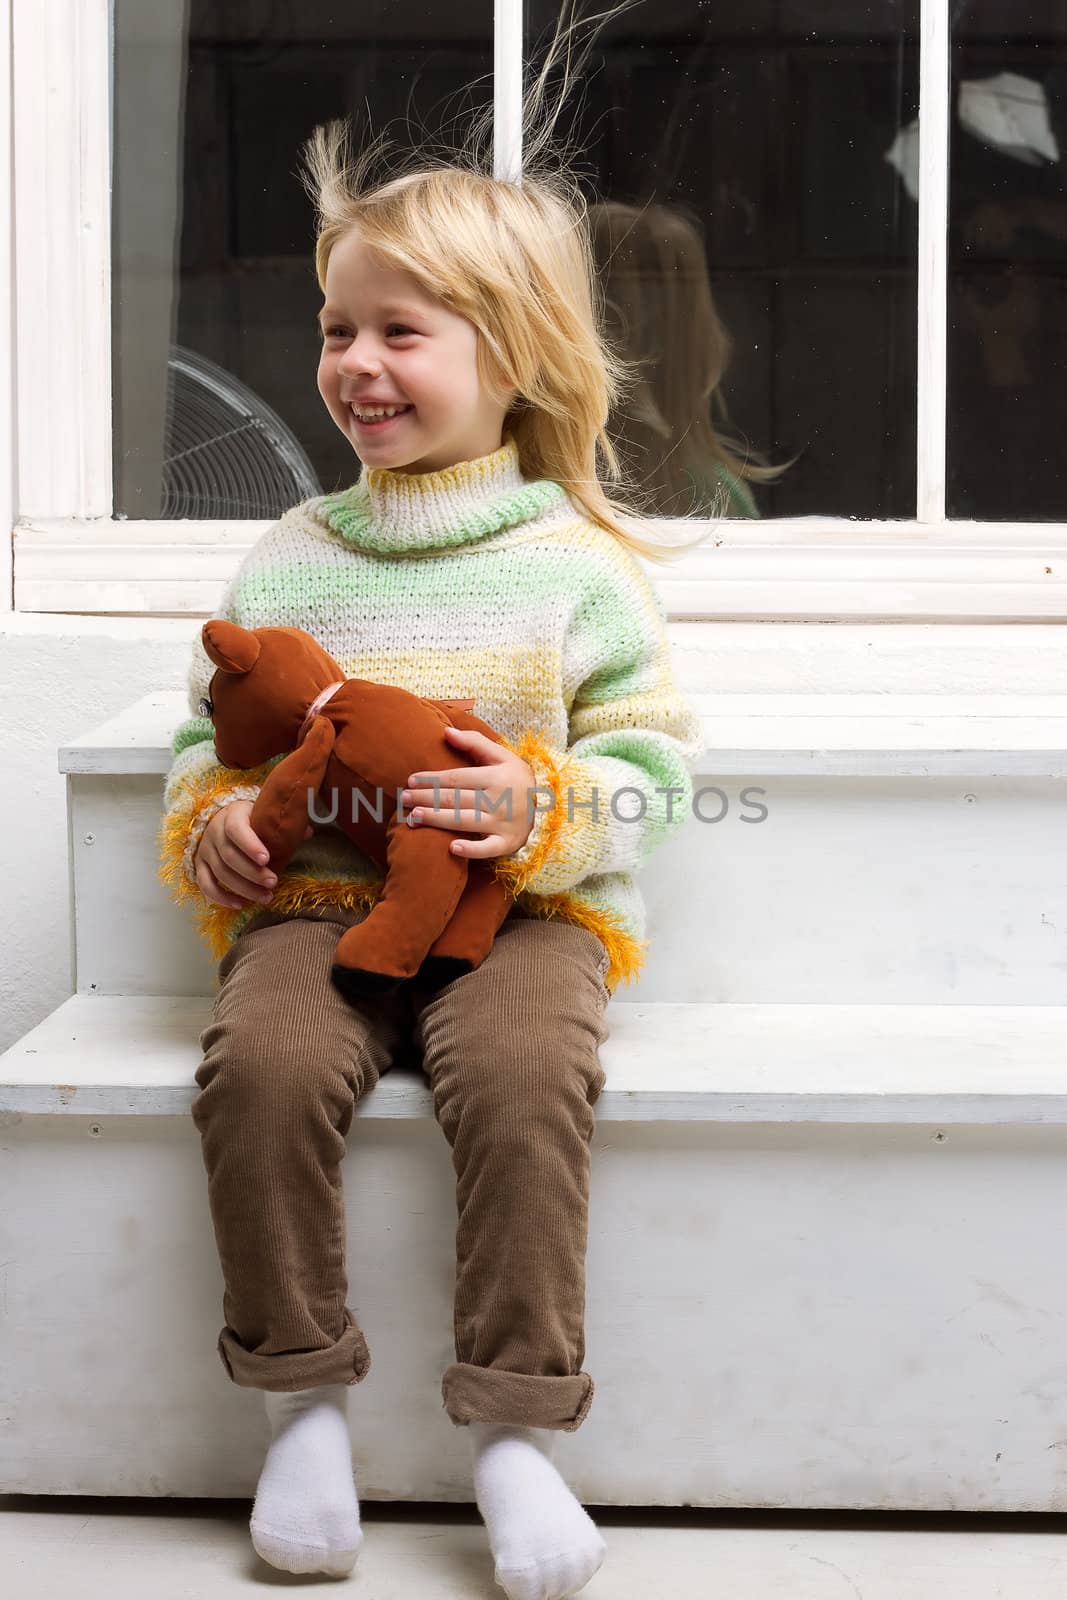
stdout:
[[(667, 616), (1067, 621), (1067, 526), (1022, 525), (1013, 542), (1011, 530), (1000, 538), (997, 523), (966, 538), (945, 525), (934, 539), (934, 530), (918, 525), (798, 522), (805, 526), (797, 533), (789, 522), (709, 525), (701, 549), (670, 563), (645, 562)], [(19, 526), (16, 608), (211, 616), (227, 578), (254, 544), (251, 538), (242, 542), (240, 526), (219, 525), (214, 541), (205, 523), (141, 523), (142, 542), (131, 539), (133, 523)], [(267, 525), (245, 526), (261, 531)]]

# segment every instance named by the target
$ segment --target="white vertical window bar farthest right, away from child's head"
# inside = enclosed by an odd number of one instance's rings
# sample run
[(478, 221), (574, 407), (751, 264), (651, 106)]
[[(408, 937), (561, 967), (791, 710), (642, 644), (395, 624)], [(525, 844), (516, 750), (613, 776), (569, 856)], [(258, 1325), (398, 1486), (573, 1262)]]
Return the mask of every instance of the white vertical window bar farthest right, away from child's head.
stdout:
[(949, 323), (949, 0), (921, 0), (918, 72), (917, 517), (945, 520)]

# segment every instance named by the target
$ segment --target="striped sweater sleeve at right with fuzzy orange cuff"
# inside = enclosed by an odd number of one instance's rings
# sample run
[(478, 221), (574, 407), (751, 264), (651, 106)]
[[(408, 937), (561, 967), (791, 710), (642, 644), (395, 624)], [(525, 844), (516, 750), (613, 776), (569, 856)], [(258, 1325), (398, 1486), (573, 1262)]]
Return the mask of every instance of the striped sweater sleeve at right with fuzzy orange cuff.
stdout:
[(579, 682), (566, 749), (530, 728), (506, 741), (537, 784), (530, 838), (499, 858), (515, 893), (560, 894), (592, 874), (638, 870), (693, 805), (702, 722), (673, 678), (662, 600), (629, 552), (579, 608), (565, 670), (568, 658)]

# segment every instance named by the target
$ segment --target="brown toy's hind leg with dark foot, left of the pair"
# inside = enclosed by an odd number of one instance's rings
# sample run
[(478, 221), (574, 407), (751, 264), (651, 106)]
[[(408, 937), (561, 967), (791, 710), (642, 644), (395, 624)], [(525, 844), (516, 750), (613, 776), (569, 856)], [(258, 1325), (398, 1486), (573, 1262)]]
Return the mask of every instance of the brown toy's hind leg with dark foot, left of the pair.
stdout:
[(346, 1000), (387, 994), (419, 971), (467, 883), (469, 862), (451, 854), (451, 837), (390, 822), (381, 899), (338, 942), (330, 976)]

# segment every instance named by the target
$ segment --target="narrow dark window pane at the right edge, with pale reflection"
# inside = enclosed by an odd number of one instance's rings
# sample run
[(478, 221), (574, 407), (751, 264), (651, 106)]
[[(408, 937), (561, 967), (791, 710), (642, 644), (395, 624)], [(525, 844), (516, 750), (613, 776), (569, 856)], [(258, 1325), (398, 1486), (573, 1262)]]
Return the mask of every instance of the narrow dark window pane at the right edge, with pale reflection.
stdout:
[(1067, 6), (953, 8), (950, 517), (1067, 520)]

